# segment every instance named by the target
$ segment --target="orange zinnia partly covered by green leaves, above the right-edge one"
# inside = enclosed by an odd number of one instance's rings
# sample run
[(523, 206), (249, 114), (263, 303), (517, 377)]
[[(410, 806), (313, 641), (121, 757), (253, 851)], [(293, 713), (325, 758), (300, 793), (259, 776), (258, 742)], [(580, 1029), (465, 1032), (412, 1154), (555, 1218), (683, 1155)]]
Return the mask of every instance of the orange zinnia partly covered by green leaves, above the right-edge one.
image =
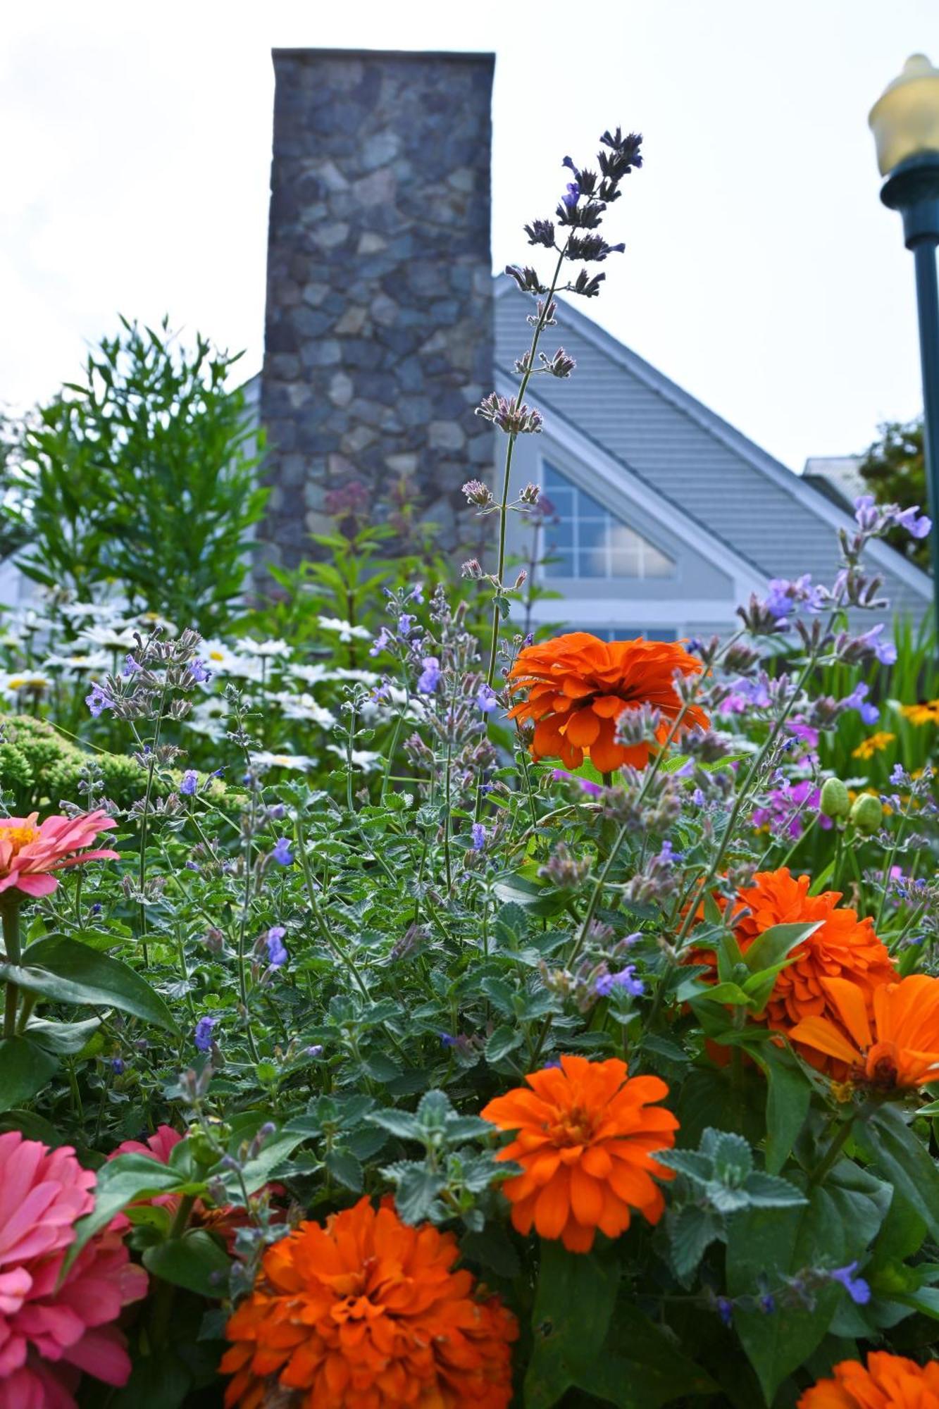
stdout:
[[(743, 954), (757, 936), (774, 924), (822, 921), (814, 934), (791, 951), (792, 962), (777, 975), (763, 1014), (770, 1027), (790, 1037), (795, 1024), (805, 1017), (836, 1019), (825, 991), (825, 979), (852, 979), (864, 993), (870, 1009), (874, 991), (898, 976), (887, 947), (874, 933), (873, 920), (859, 920), (856, 910), (839, 906), (840, 890), (809, 895), (811, 883), (809, 876), (797, 878), (785, 867), (778, 871), (757, 871), (753, 883), (737, 890), (739, 907), (730, 914)], [(742, 913), (743, 906), (749, 914)], [(688, 962), (716, 967), (716, 957), (713, 951), (695, 950)], [(847, 1075), (814, 1050), (802, 1055), (840, 1079)]]

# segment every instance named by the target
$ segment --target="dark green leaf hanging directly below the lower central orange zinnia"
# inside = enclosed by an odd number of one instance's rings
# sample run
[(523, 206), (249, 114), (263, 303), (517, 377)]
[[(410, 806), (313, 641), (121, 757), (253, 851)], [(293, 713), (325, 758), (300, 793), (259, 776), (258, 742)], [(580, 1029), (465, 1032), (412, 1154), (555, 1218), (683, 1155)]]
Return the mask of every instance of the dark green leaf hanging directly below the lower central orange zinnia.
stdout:
[(581, 1385), (606, 1339), (618, 1286), (612, 1248), (568, 1253), (563, 1243), (541, 1239), (524, 1409), (550, 1409)]

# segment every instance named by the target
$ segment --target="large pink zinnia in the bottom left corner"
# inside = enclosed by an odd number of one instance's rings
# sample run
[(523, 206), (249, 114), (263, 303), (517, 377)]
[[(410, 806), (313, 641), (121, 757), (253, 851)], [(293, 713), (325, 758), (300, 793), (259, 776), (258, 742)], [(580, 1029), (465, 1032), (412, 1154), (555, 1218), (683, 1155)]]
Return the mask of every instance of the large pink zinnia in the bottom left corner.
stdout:
[(114, 1223), (62, 1278), (75, 1222), (94, 1205), (94, 1174), (68, 1146), (0, 1136), (0, 1409), (76, 1409), (82, 1371), (123, 1385), (131, 1371), (121, 1308), (147, 1295)]

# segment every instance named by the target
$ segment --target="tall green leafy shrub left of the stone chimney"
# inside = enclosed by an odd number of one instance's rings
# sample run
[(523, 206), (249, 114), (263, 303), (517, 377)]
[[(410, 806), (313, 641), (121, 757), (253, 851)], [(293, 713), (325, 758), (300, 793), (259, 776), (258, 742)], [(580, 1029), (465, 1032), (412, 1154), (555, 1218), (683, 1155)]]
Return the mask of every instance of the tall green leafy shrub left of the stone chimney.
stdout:
[(24, 571), (89, 597), (117, 583), (135, 607), (213, 631), (231, 620), (264, 510), (235, 356), (202, 337), (121, 318), (80, 383), (27, 426)]

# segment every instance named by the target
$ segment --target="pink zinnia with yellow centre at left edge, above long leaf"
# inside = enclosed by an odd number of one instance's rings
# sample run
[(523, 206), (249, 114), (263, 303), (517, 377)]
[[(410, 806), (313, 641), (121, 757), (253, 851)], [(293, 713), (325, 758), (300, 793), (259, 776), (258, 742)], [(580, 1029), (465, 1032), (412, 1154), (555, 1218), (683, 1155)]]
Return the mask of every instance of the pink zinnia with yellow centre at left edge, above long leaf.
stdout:
[(80, 817), (47, 817), (37, 827), (38, 812), (28, 817), (0, 817), (0, 892), (23, 890), (24, 895), (51, 895), (58, 886), (52, 871), (78, 867), (86, 861), (117, 861), (116, 851), (85, 851), (99, 831), (117, 823), (100, 809)]

